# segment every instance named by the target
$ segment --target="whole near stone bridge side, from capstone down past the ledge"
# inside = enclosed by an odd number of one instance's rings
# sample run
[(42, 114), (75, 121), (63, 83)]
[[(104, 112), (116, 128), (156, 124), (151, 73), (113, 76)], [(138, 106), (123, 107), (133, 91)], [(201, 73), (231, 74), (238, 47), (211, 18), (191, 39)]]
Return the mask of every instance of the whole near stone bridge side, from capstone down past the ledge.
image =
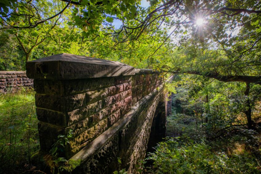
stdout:
[(34, 79), (41, 150), (72, 131), (62, 156), (81, 159), (74, 173), (135, 173), (165, 136), (169, 108), (155, 71), (64, 53), (27, 62), (26, 69)]

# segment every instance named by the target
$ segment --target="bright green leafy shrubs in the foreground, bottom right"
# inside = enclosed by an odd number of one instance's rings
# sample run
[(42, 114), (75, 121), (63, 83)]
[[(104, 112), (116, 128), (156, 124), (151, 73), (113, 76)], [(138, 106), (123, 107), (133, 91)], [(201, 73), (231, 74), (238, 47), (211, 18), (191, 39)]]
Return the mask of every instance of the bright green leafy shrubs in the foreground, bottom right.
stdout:
[(225, 152), (213, 152), (204, 142), (178, 138), (159, 143), (148, 160), (154, 161), (156, 173), (259, 173), (258, 162), (248, 153), (228, 157)]

